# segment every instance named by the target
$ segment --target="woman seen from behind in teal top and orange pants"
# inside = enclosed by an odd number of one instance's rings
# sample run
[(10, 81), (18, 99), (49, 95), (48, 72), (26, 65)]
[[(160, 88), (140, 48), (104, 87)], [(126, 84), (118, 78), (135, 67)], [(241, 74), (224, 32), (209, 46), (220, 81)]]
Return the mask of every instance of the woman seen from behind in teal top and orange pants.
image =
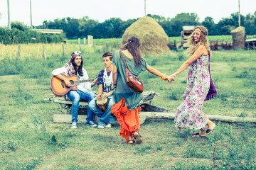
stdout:
[[(112, 113), (116, 115), (121, 126), (120, 136), (124, 137), (128, 144), (142, 143), (142, 136), (139, 135), (139, 112), (142, 110), (139, 102), (144, 98), (144, 94), (137, 94), (127, 86), (125, 82), (125, 67), (135, 77), (138, 77), (145, 70), (151, 72), (161, 79), (167, 79), (166, 74), (162, 74), (156, 69), (146, 64), (139, 50), (140, 42), (138, 38), (131, 37), (124, 45), (121, 52), (117, 51), (113, 57), (113, 83), (114, 83), (114, 105)], [(124, 57), (124, 62), (122, 57)]]

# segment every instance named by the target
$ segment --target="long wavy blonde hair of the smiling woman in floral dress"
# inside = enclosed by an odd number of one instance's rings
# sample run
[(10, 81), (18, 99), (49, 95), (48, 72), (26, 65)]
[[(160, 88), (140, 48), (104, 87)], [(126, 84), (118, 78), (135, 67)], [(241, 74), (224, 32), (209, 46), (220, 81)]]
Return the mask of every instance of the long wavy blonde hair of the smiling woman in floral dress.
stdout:
[(210, 51), (210, 44), (208, 42), (208, 38), (206, 38), (206, 35), (208, 35), (208, 30), (204, 26), (196, 26), (195, 30), (199, 29), (201, 30), (200, 38), (198, 42), (195, 42), (195, 39), (193, 38), (193, 35), (195, 31), (191, 34), (191, 37), (188, 38), (188, 42), (186, 42), (186, 45), (189, 45), (188, 50), (186, 50), (186, 55), (193, 55), (193, 53), (198, 49), (200, 45), (206, 46), (206, 49)]

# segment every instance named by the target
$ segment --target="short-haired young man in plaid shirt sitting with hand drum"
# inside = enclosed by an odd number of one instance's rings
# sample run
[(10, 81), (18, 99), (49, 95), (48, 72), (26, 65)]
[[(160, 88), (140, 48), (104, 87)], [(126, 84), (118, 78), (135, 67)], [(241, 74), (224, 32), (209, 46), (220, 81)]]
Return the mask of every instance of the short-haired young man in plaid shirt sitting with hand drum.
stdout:
[(112, 94), (114, 91), (112, 78), (113, 56), (114, 54), (111, 52), (105, 52), (104, 55), (102, 55), (105, 69), (102, 69), (98, 76), (98, 94), (96, 98), (93, 98), (89, 103), (92, 112), (100, 118), (97, 127), (99, 129), (111, 128), (110, 123), (114, 123), (114, 118), (111, 115), (111, 108), (113, 105)]

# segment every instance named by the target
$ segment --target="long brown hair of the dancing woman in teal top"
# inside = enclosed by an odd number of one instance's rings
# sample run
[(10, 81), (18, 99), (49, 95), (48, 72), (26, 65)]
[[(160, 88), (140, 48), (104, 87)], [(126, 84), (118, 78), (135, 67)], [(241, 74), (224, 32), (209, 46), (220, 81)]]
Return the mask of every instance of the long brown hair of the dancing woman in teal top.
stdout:
[(124, 47), (122, 47), (121, 49), (121, 50), (128, 50), (129, 53), (131, 53), (132, 57), (134, 57), (135, 66), (142, 65), (140, 63), (142, 61), (142, 54), (139, 50), (139, 46), (140, 46), (139, 38), (132, 36), (128, 39), (128, 42), (126, 42), (124, 44)]

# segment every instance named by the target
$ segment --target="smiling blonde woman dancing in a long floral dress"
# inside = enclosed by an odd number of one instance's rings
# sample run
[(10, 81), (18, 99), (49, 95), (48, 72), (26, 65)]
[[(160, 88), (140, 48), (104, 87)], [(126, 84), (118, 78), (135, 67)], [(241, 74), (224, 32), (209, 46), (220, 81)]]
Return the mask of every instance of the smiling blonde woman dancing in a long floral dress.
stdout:
[[(176, 110), (174, 124), (176, 128), (200, 129), (193, 137), (206, 137), (215, 128), (215, 123), (210, 121), (203, 113), (203, 102), (217, 95), (210, 77), (210, 47), (206, 38), (208, 30), (197, 26), (188, 45), (186, 53), (191, 55), (181, 67), (169, 77), (169, 82), (188, 68), (188, 81), (183, 95), (183, 103)], [(207, 128), (206, 128), (207, 125)]]

